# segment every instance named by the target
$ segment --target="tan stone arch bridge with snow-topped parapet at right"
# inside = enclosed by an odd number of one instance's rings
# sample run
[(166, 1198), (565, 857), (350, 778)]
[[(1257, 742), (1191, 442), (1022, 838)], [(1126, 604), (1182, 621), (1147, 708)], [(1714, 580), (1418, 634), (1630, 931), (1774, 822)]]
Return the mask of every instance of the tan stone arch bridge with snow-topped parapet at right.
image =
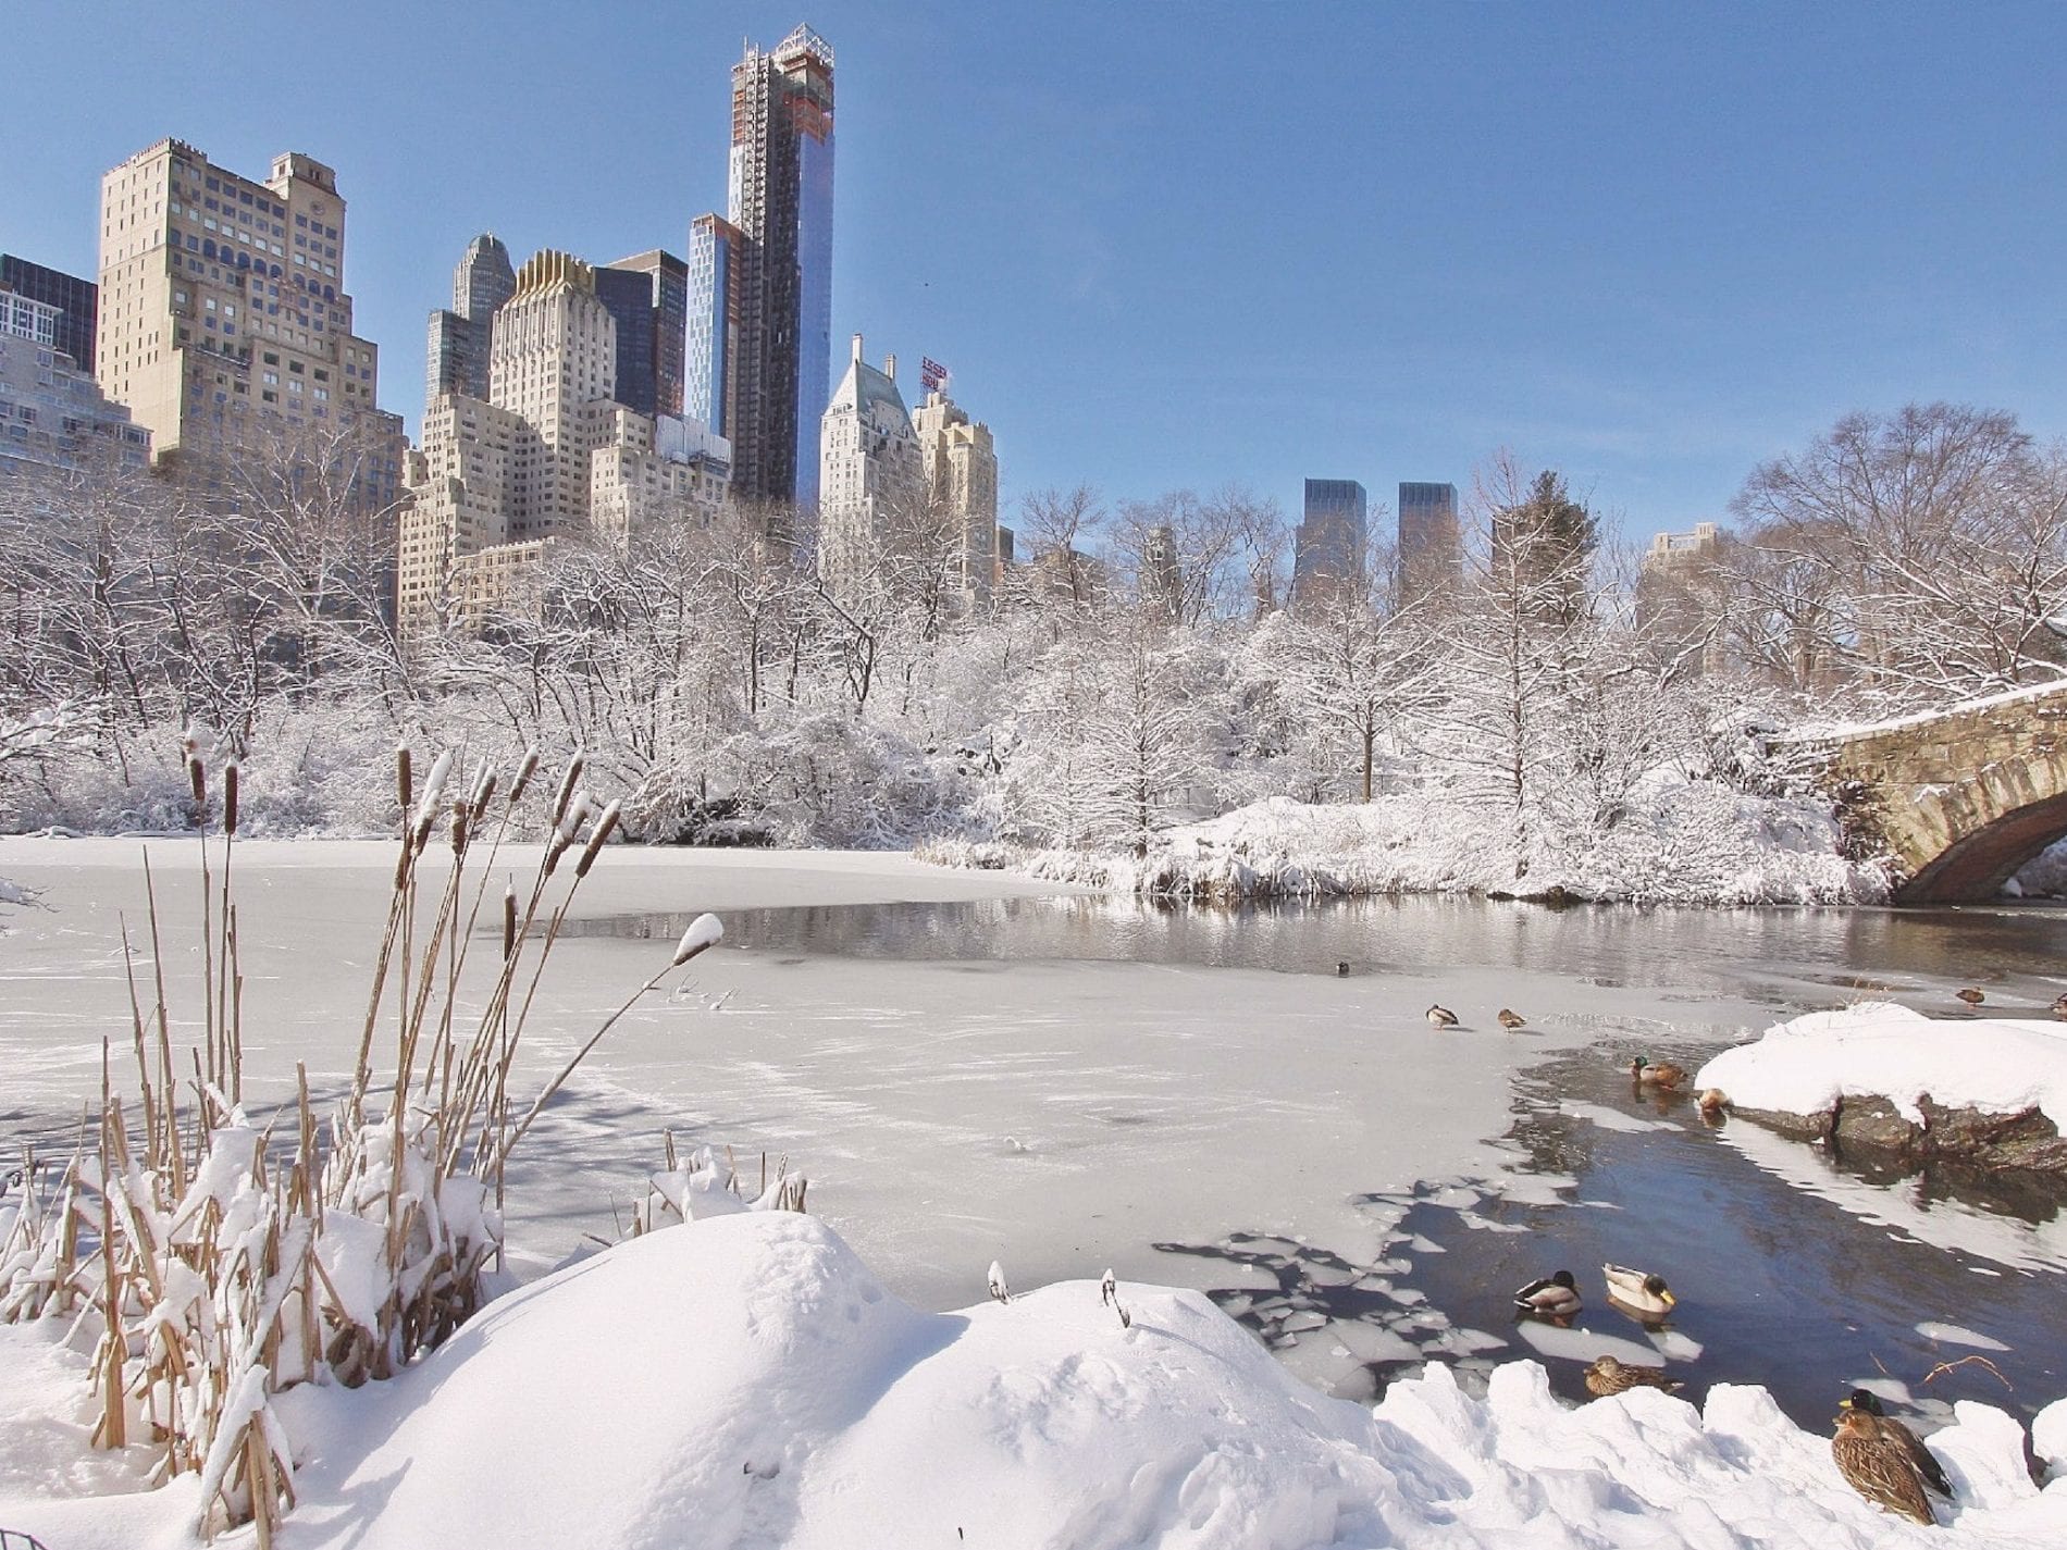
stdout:
[(1893, 858), (1895, 903), (1991, 899), (2067, 835), (2067, 684), (1790, 742), (1850, 843)]

